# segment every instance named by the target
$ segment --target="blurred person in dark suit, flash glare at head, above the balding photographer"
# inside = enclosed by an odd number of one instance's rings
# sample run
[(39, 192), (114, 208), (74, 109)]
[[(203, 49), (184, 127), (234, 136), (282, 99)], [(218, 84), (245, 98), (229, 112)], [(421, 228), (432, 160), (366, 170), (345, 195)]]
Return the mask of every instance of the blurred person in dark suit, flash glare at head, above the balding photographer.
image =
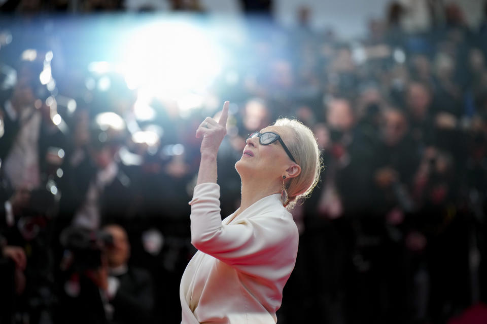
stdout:
[(125, 139), (123, 119), (113, 112), (98, 114), (86, 132), (89, 143), (77, 145), (75, 139), (62, 165), (60, 216), (96, 230), (107, 219), (130, 216), (133, 192), (125, 166), (117, 160)]

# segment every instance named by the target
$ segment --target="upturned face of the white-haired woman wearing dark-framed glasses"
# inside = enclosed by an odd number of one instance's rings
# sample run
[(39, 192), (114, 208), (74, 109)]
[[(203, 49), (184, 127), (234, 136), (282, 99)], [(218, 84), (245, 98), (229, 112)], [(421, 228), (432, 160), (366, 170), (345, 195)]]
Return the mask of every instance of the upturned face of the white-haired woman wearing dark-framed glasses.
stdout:
[[(284, 126), (268, 126), (260, 131), (260, 133), (265, 132), (279, 134), (290, 149), (293, 143), (291, 129)], [(283, 173), (293, 164), (279, 141), (261, 145), (259, 138), (254, 137), (247, 139), (242, 157), (235, 164), (235, 169), (242, 178), (250, 177), (274, 183), (275, 180), (281, 179)]]

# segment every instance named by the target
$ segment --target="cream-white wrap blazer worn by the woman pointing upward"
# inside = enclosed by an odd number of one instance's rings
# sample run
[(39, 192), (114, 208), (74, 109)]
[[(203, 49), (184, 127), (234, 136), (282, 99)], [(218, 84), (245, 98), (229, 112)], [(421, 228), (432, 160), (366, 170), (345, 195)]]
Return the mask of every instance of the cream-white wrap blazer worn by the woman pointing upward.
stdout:
[(220, 217), (220, 186), (194, 188), (191, 243), (181, 278), (182, 324), (274, 324), (296, 262), (298, 229), (280, 194)]

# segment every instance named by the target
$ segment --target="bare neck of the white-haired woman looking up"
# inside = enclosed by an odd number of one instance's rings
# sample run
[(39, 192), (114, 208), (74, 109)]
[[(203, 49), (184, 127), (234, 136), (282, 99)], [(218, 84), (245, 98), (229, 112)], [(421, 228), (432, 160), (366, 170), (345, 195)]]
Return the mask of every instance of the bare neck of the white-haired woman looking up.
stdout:
[(260, 199), (281, 192), (281, 185), (268, 179), (243, 179), (242, 177), (242, 196), (238, 214), (249, 208)]

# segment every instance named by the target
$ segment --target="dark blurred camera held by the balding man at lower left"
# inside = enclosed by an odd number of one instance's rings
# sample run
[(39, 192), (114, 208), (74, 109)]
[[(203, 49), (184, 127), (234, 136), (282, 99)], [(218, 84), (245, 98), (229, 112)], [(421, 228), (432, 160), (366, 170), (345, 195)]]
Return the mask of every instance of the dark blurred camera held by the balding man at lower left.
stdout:
[(67, 227), (60, 235), (65, 253), (62, 264), (64, 270), (73, 268), (76, 272), (96, 270), (101, 266), (103, 251), (113, 246), (111, 234), (82, 227)]

